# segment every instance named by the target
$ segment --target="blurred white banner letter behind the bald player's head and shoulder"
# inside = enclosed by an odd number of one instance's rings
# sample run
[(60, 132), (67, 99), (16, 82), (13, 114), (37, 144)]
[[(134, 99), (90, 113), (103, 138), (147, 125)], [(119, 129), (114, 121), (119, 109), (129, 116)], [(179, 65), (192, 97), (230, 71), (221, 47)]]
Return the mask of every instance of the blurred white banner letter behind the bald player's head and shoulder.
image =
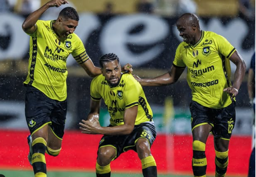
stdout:
[[(245, 39), (245, 36), (248, 33), (248, 25), (241, 19), (234, 19), (231, 20), (228, 24), (224, 25), (221, 20), (217, 18), (211, 19), (207, 25), (204, 23), (203, 20), (199, 19), (200, 21), (200, 28), (204, 31), (212, 31), (217, 34), (224, 36), (240, 53), (240, 55), (245, 60), (247, 68), (250, 67), (251, 57), (255, 51), (255, 48), (250, 50), (245, 50), (242, 47), (242, 41)], [(183, 39), (179, 36), (179, 31), (177, 27), (173, 27), (174, 34), (176, 35), (177, 39), (181, 42)], [(232, 62), (231, 63), (231, 70), (235, 72), (236, 65)]]

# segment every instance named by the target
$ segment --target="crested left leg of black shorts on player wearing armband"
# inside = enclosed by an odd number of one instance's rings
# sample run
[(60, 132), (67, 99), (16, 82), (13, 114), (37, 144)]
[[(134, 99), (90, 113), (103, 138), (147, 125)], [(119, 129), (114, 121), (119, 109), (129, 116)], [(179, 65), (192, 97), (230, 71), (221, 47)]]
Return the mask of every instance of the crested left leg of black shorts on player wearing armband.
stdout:
[(51, 109), (46, 95), (34, 87), (26, 88), (25, 117), (31, 135), (51, 123)]

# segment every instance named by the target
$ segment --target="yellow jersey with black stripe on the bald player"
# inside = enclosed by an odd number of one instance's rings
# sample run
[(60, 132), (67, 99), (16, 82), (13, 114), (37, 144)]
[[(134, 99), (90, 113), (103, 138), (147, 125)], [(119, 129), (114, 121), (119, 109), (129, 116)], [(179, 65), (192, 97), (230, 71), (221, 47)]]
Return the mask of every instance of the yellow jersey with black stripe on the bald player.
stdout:
[(173, 65), (187, 67), (187, 82), (193, 101), (214, 109), (225, 108), (232, 103), (223, 89), (231, 86), (229, 57), (235, 51), (226, 38), (210, 31), (202, 31), (195, 45), (179, 44)]

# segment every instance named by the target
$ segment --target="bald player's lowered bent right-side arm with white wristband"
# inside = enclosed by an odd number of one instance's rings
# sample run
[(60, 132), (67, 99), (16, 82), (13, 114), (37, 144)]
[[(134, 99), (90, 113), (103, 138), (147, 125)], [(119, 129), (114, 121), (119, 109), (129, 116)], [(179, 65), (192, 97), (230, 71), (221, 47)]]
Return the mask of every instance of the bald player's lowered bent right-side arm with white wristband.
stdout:
[(237, 96), (238, 90), (240, 89), (240, 86), (242, 84), (245, 75), (246, 65), (244, 59), (237, 51), (235, 51), (229, 59), (237, 66), (237, 68), (235, 71), (235, 77), (232, 87), (227, 87), (223, 91), (229, 93), (229, 95), (233, 98)]

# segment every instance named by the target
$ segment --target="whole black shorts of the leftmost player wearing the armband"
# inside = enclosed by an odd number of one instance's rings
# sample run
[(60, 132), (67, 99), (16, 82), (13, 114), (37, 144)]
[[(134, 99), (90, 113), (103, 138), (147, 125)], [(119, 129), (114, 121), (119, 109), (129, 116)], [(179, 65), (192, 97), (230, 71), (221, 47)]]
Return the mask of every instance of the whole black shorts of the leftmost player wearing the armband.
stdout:
[(66, 100), (52, 100), (35, 87), (26, 86), (25, 116), (31, 135), (49, 124), (57, 138), (62, 139), (66, 115)]

